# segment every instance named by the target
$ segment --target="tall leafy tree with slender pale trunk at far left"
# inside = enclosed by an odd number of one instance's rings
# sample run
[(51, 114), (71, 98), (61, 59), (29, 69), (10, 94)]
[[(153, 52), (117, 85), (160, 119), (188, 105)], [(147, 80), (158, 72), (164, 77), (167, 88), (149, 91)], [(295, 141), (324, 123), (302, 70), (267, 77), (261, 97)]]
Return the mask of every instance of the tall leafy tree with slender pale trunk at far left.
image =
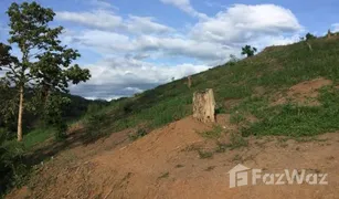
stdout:
[(63, 28), (50, 28), (55, 13), (36, 2), (12, 3), (8, 9), (10, 18), (10, 44), (15, 44), (21, 56), (9, 67), (6, 77), (14, 84), (19, 93), (18, 140), (22, 140), (22, 115), (24, 91), (28, 86), (44, 92), (44, 101), (53, 91), (67, 92), (68, 82), (77, 84), (91, 77), (88, 70), (71, 65), (80, 54), (61, 45), (59, 35)]

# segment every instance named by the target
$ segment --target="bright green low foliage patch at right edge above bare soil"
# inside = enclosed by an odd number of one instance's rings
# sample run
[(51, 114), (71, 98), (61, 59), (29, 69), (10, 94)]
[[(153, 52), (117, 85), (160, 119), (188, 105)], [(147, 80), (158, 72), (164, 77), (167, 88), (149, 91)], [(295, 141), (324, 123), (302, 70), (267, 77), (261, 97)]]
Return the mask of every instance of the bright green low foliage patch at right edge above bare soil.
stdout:
[(339, 129), (339, 92), (325, 87), (320, 92), (321, 106), (285, 104), (265, 108), (261, 121), (243, 129), (243, 135), (315, 136)]

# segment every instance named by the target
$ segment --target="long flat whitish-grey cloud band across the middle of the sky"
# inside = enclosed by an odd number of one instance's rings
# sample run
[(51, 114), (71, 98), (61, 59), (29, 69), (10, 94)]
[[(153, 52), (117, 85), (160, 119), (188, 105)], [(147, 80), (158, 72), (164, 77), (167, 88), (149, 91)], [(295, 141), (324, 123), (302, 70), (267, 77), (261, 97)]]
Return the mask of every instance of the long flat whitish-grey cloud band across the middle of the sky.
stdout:
[[(67, 38), (67, 36), (66, 36)], [(197, 41), (176, 36), (140, 35), (129, 38), (115, 32), (85, 30), (64, 41), (68, 44), (77, 44), (80, 48), (92, 49), (104, 54), (135, 55), (135, 59), (142, 60), (152, 55), (157, 56), (182, 56), (197, 60), (220, 60), (226, 54), (234, 54), (237, 50), (225, 45)]]

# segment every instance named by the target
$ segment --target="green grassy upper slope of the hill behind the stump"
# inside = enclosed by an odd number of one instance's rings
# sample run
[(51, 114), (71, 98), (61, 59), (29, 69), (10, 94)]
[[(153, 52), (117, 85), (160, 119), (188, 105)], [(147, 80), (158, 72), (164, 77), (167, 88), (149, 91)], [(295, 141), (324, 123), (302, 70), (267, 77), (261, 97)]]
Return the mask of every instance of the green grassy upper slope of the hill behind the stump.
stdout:
[[(191, 114), (193, 92), (213, 88), (221, 112), (232, 114), (240, 123), (251, 113), (259, 121), (244, 125), (243, 135), (316, 135), (339, 129), (339, 92), (333, 87), (322, 90), (322, 106), (308, 107), (295, 104), (268, 106), (268, 100), (277, 91), (319, 76), (339, 80), (339, 39), (310, 41), (287, 46), (268, 48), (258, 55), (234, 65), (221, 65), (192, 76), (192, 87), (187, 80), (178, 80), (131, 97), (113, 102), (95, 122), (97, 134), (118, 132), (140, 124), (152, 129)], [(265, 94), (253, 96), (256, 87)], [(225, 100), (241, 100), (233, 108), (223, 107)]]

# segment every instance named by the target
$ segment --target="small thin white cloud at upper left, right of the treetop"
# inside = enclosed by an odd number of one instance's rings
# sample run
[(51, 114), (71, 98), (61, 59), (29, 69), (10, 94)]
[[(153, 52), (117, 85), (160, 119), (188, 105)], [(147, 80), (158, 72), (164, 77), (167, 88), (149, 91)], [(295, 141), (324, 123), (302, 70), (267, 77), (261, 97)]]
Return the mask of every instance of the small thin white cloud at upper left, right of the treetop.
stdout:
[(119, 27), (123, 22), (123, 19), (119, 15), (105, 10), (96, 10), (93, 12), (56, 12), (56, 20), (70, 21), (86, 27), (110, 30)]

